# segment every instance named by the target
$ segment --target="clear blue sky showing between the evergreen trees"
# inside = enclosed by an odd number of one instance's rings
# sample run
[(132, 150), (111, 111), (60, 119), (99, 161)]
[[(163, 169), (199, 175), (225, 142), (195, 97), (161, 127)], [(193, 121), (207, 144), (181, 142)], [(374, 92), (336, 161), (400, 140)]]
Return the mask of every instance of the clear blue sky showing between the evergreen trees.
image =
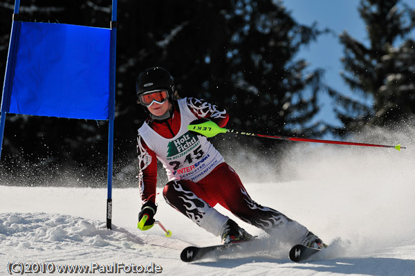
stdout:
[[(292, 17), (299, 23), (311, 25), (317, 22), (320, 29), (330, 28), (333, 34), (324, 34), (318, 37), (317, 42), (311, 42), (309, 46), (299, 51), (298, 58), (304, 58), (310, 63), (311, 68), (323, 68), (324, 82), (334, 89), (349, 94), (349, 87), (340, 77), (343, 56), (343, 46), (338, 35), (344, 30), (360, 42), (367, 42), (365, 24), (358, 13), (360, 0), (283, 0), (282, 3)], [(319, 119), (329, 122), (331, 125), (340, 126), (335, 118), (331, 101), (328, 95), (320, 96)]]

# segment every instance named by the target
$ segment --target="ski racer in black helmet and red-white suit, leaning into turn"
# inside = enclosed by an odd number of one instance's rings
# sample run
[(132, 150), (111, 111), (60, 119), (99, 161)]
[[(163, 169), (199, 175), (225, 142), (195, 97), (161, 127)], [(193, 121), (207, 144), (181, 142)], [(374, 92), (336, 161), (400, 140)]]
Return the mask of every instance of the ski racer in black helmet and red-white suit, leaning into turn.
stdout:
[(156, 205), (156, 158), (163, 163), (169, 182), (163, 189), (165, 201), (216, 236), (222, 243), (248, 241), (252, 235), (235, 221), (219, 213), (219, 203), (247, 223), (272, 234), (281, 232), (294, 244), (312, 248), (326, 245), (301, 224), (284, 214), (253, 201), (237, 173), (205, 136), (187, 130), (187, 125), (211, 120), (219, 127), (228, 122), (228, 113), (196, 98), (176, 97), (174, 79), (161, 67), (148, 68), (136, 82), (138, 103), (149, 118), (138, 129), (137, 153), (142, 208), (148, 219), (142, 230), (154, 225)]

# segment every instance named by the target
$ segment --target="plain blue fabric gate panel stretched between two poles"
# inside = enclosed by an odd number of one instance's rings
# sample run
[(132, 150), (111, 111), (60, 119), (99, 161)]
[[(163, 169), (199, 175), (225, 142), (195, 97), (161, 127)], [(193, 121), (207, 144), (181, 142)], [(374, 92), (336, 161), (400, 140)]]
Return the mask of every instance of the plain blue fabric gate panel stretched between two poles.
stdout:
[(19, 24), (8, 112), (107, 120), (111, 30)]

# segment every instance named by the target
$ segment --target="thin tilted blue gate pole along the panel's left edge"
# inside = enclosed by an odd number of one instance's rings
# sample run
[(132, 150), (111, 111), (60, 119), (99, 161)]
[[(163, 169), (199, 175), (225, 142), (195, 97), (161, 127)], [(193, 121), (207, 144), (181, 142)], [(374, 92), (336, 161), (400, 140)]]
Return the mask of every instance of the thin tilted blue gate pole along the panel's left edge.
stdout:
[[(14, 13), (17, 15), (19, 13), (20, 0), (15, 0), (15, 10)], [(8, 59), (6, 64), (6, 75), (4, 76), (3, 84), (3, 97), (1, 98), (1, 111), (0, 111), (0, 159), (1, 159), (1, 149), (3, 148), (3, 136), (4, 136), (4, 125), (6, 124), (6, 113), (10, 106), (10, 89), (12, 82), (12, 72), (15, 67), (15, 53), (16, 53), (16, 42), (18, 34), (19, 23), (14, 21), (12, 22), (12, 31), (10, 33), (10, 43), (8, 49)]]

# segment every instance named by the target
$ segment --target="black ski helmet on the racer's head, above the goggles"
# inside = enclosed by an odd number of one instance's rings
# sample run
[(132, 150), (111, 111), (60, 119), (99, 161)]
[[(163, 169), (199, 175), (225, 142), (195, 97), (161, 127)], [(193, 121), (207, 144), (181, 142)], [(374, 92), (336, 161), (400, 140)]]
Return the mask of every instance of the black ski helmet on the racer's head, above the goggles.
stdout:
[[(147, 68), (138, 75), (136, 82), (138, 98), (142, 93), (158, 89), (166, 89), (169, 93), (169, 100), (174, 100), (174, 78), (165, 68)], [(138, 100), (138, 103), (140, 103), (140, 100)]]

